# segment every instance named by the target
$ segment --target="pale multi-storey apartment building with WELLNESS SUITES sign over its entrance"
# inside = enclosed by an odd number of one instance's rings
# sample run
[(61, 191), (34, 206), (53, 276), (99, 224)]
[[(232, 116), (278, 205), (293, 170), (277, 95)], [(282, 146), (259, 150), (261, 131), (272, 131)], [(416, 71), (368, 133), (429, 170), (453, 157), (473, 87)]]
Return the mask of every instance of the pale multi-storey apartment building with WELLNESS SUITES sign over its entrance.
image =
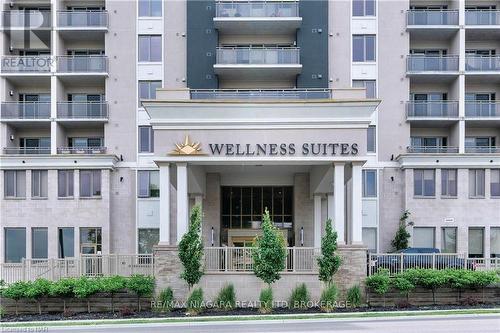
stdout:
[(149, 253), (194, 203), (206, 246), (267, 207), (385, 252), (408, 210), (499, 256), (499, 41), (488, 0), (3, 1), (1, 260)]

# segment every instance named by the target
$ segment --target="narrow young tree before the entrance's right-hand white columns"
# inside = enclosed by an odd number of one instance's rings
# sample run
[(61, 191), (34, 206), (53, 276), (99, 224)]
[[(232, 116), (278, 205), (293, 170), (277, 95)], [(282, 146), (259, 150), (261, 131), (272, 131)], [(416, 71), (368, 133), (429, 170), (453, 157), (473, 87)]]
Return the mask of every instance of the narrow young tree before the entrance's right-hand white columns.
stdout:
[(332, 220), (326, 220), (325, 235), (321, 238), (321, 257), (318, 258), (319, 280), (328, 286), (333, 281), (333, 275), (339, 270), (342, 263), (335, 254), (337, 250), (337, 232), (332, 229)]

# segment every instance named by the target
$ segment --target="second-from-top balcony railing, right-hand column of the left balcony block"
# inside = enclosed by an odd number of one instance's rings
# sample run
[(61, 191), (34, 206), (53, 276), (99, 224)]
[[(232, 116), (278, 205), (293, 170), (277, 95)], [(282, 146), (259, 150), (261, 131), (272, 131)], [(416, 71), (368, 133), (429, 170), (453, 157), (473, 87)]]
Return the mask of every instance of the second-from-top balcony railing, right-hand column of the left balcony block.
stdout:
[(59, 73), (107, 73), (108, 57), (91, 56), (58, 56), (57, 71)]

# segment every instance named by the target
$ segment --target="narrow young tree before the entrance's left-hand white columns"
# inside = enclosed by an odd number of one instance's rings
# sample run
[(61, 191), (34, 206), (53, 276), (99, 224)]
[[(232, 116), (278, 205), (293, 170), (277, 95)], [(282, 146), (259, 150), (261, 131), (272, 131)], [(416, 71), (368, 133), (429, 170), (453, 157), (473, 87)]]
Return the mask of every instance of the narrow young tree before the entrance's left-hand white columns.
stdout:
[(201, 238), (201, 207), (196, 205), (191, 210), (188, 232), (182, 236), (179, 243), (179, 258), (184, 270), (181, 278), (184, 279), (189, 289), (200, 281), (203, 276), (203, 242)]

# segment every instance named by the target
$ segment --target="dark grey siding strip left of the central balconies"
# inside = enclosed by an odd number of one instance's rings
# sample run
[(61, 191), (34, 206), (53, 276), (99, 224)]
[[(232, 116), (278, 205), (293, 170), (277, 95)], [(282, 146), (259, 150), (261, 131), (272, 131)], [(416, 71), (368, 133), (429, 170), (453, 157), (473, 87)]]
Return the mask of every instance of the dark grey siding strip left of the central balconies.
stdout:
[(215, 1), (187, 1), (187, 84), (191, 89), (217, 88), (214, 16)]

